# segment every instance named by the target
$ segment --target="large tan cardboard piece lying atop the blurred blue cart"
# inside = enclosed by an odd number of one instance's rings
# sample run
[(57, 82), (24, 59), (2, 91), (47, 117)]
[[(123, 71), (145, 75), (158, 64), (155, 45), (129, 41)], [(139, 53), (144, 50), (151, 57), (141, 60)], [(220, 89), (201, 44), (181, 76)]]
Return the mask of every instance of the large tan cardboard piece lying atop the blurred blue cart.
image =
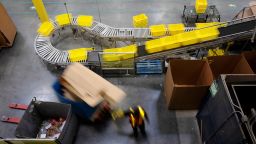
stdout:
[(91, 107), (103, 100), (115, 107), (126, 94), (115, 85), (80, 63), (69, 65), (61, 76), (61, 84)]

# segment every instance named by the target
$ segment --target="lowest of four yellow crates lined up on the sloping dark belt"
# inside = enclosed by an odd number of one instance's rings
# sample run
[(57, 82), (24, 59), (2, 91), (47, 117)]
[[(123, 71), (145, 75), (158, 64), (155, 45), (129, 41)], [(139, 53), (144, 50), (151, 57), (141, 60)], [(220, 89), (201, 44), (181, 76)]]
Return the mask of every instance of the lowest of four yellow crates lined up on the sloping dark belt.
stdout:
[(155, 53), (155, 52), (163, 51), (164, 43), (162, 41), (162, 38), (146, 41), (145, 49), (148, 53)]

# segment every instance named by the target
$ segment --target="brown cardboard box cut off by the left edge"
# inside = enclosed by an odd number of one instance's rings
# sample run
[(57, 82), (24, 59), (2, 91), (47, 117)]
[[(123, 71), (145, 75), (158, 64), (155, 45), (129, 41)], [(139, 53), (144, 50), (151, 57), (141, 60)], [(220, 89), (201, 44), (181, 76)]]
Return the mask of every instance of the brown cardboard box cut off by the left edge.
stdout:
[(0, 3), (0, 48), (11, 47), (16, 35), (16, 26)]

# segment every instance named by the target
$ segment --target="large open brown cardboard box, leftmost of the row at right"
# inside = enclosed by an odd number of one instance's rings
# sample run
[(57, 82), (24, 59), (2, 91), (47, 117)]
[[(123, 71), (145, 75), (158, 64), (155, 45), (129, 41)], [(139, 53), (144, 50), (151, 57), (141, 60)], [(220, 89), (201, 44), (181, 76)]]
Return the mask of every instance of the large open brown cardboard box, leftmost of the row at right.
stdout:
[(170, 60), (165, 76), (165, 98), (171, 110), (198, 109), (213, 81), (204, 60)]

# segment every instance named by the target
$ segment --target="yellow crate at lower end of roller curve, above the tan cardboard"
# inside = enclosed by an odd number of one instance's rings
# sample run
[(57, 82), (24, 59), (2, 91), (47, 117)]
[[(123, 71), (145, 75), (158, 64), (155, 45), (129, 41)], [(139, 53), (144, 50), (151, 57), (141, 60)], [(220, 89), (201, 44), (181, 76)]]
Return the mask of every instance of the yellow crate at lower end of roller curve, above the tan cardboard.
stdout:
[(87, 52), (92, 50), (94, 50), (94, 48), (77, 48), (68, 50), (68, 58), (71, 62), (86, 61)]

